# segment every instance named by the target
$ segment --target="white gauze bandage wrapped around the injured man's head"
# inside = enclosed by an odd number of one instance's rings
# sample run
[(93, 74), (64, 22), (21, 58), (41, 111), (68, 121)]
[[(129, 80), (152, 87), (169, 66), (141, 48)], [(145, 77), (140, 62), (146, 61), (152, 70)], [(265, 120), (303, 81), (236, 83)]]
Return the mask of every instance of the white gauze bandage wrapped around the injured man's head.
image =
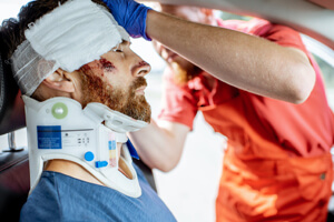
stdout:
[(68, 72), (98, 60), (129, 34), (91, 0), (69, 0), (26, 30), (11, 60), (22, 94), (31, 95), (58, 68)]

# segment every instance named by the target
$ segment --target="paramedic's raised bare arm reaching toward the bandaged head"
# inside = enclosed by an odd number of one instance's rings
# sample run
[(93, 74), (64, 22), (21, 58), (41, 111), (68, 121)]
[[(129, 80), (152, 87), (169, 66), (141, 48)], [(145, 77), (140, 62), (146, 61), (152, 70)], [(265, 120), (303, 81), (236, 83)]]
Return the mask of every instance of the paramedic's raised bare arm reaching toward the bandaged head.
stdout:
[(315, 73), (298, 49), (148, 10), (146, 33), (224, 82), (293, 103), (310, 95)]

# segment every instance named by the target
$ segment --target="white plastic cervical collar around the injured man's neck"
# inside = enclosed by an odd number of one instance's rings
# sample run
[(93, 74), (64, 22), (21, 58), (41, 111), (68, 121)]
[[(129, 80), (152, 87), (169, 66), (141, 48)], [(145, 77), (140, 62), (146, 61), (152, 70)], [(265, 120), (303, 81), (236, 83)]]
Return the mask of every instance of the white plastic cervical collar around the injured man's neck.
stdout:
[[(30, 192), (40, 179), (45, 161), (60, 159), (80, 164), (106, 186), (132, 198), (141, 195), (131, 153), (122, 144), (122, 157), (119, 157), (117, 143), (127, 142), (126, 132), (139, 130), (147, 125), (146, 122), (101, 103), (89, 103), (82, 110), (79, 102), (69, 98), (58, 97), (43, 102), (26, 95), (22, 99), (26, 104)], [(119, 158), (130, 170), (131, 179), (119, 172)]]

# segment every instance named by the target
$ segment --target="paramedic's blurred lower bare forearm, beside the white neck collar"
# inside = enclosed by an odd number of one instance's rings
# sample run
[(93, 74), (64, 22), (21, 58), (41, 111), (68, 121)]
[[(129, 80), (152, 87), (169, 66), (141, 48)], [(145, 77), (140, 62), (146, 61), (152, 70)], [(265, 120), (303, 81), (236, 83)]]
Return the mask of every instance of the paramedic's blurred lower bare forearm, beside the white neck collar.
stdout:
[(169, 121), (151, 120), (150, 124), (129, 138), (137, 149), (140, 159), (151, 169), (164, 172), (173, 170), (183, 153), (189, 127)]

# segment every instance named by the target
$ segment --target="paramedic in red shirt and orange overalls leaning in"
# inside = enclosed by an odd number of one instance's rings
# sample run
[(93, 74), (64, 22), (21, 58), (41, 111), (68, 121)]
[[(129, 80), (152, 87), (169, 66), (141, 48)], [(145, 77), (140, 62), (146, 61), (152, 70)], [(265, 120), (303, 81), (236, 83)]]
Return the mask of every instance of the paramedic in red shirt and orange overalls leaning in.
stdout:
[(296, 31), (261, 19), (222, 21), (196, 7), (161, 6), (176, 18), (131, 0), (105, 2), (132, 37), (153, 39), (168, 64), (158, 121), (130, 135), (146, 164), (175, 168), (202, 111), (228, 138), (217, 221), (326, 221), (334, 117)]

